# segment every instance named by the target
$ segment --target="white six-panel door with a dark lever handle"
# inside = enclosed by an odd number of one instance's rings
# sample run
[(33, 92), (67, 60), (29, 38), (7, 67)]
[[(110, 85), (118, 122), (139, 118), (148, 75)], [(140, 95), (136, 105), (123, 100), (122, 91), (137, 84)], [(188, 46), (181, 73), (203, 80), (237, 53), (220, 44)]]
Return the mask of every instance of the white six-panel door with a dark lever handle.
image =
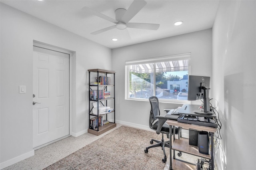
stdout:
[(69, 54), (34, 46), (33, 94), (36, 148), (69, 134)]

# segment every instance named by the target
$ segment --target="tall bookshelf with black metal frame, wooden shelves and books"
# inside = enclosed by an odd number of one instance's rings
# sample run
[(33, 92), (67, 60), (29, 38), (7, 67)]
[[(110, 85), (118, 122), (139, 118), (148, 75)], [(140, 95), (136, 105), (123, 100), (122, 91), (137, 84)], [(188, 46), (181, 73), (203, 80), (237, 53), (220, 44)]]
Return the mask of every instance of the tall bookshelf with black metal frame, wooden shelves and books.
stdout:
[[(115, 71), (104, 69), (88, 69), (89, 72), (89, 128), (88, 132), (94, 135), (100, 135), (104, 132), (116, 127), (115, 123)], [(108, 93), (106, 93), (106, 91)], [(104, 94), (108, 94), (106, 98)], [(108, 102), (109, 101), (109, 102)], [(95, 107), (98, 112), (95, 112), (94, 102), (100, 105), (110, 107), (111, 112), (99, 114), (99, 108)], [(101, 107), (102, 107), (101, 106)], [(94, 111), (93, 111), (94, 109)], [(94, 112), (94, 113), (93, 113)], [(111, 122), (102, 125), (103, 120), (108, 120), (108, 115), (111, 116)], [(114, 119), (114, 121), (113, 121)], [(98, 124), (98, 125), (97, 125)]]

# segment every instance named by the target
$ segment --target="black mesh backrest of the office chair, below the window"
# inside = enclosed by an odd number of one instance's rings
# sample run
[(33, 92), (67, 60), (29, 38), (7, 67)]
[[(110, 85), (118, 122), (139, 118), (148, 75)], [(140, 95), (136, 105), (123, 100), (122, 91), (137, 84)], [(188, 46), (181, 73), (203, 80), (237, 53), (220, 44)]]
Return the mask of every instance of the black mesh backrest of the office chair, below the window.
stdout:
[(152, 96), (149, 98), (149, 102), (151, 105), (150, 116), (149, 116), (149, 127), (153, 127), (153, 123), (156, 120), (156, 116), (160, 115), (160, 110), (158, 106), (158, 98), (156, 96)]

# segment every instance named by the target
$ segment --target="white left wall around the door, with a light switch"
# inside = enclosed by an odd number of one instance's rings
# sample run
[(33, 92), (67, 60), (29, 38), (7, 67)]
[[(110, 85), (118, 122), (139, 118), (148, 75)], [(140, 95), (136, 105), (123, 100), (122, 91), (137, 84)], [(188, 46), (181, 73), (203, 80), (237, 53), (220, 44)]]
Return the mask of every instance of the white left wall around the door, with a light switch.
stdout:
[[(73, 113), (71, 133), (88, 128), (88, 71), (111, 69), (111, 49), (62, 28), (20, 12), (5, 4), (1, 15), (1, 168), (34, 154), (32, 148), (33, 40), (73, 51)], [(19, 94), (19, 85), (26, 93)]]

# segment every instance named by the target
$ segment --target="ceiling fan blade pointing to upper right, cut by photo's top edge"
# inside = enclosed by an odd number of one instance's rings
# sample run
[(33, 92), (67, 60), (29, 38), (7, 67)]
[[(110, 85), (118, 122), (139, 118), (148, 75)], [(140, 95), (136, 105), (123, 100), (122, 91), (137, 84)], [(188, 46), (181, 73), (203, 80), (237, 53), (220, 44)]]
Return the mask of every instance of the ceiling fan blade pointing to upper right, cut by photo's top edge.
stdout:
[(146, 4), (147, 2), (144, 0), (134, 0), (122, 17), (122, 21), (129, 22)]

